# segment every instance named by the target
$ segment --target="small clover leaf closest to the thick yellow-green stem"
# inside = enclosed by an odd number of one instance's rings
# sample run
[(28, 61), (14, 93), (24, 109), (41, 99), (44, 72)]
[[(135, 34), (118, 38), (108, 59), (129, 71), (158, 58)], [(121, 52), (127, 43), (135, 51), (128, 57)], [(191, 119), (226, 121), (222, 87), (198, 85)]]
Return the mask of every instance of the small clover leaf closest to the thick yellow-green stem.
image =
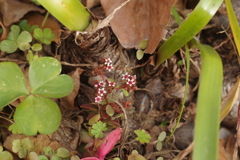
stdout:
[(54, 38), (54, 34), (50, 28), (45, 28), (42, 30), (41, 28), (34, 29), (33, 37), (40, 40), (44, 44), (50, 44), (51, 39)]

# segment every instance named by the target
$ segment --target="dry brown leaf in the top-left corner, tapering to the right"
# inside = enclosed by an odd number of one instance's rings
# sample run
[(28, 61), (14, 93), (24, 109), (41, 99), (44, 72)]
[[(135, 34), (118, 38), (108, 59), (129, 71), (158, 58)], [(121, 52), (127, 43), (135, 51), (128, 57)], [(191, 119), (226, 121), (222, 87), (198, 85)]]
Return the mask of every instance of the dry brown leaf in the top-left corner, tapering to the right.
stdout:
[(44, 13), (45, 10), (18, 0), (0, 0), (0, 13), (3, 15), (3, 24), (10, 26), (19, 21), (26, 13), (38, 11)]

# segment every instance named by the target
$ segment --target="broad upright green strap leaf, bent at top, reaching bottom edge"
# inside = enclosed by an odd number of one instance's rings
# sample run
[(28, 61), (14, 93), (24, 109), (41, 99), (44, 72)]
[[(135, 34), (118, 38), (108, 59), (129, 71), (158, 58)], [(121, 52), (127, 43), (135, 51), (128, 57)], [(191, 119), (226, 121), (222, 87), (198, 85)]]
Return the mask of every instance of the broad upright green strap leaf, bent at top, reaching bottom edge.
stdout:
[(218, 131), (222, 96), (223, 67), (218, 53), (200, 45), (202, 68), (198, 90), (194, 133), (194, 160), (218, 159)]

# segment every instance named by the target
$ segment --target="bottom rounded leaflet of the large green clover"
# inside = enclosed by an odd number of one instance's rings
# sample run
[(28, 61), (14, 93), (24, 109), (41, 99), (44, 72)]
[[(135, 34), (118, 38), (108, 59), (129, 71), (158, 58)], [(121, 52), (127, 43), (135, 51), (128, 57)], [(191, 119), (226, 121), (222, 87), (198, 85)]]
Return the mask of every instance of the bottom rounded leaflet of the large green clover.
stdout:
[(13, 133), (29, 136), (52, 134), (61, 122), (61, 112), (58, 105), (44, 97), (28, 96), (17, 107), (14, 114), (15, 123), (9, 127)]

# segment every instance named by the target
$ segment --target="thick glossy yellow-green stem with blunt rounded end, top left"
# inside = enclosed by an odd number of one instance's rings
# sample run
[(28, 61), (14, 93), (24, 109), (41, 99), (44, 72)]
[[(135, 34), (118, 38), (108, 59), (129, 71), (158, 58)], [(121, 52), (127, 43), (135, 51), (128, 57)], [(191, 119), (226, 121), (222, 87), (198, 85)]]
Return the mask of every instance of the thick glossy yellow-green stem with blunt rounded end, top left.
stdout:
[(79, 0), (38, 0), (55, 18), (71, 31), (84, 31), (91, 14)]

